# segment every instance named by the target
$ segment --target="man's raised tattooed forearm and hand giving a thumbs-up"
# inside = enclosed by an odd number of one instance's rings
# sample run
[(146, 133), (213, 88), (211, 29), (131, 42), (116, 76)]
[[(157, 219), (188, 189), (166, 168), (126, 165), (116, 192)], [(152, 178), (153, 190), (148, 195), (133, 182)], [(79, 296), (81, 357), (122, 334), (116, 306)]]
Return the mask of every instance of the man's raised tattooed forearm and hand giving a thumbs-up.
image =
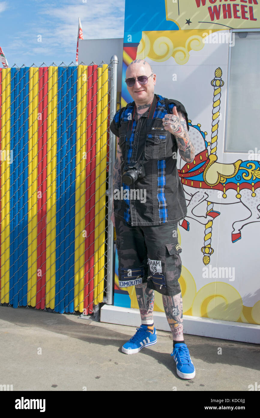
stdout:
[(162, 121), (164, 129), (175, 136), (181, 158), (187, 163), (191, 163), (195, 156), (195, 150), (189, 139), (184, 113), (177, 112), (176, 107), (174, 107), (173, 115), (165, 115)]

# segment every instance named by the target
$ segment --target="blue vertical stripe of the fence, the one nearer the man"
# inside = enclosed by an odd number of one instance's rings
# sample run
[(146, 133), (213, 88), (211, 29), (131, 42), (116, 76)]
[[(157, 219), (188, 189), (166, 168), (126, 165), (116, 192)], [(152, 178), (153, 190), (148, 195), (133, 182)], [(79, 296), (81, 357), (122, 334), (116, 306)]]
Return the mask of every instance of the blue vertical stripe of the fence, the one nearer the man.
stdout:
[(77, 67), (58, 68), (55, 311), (74, 312)]

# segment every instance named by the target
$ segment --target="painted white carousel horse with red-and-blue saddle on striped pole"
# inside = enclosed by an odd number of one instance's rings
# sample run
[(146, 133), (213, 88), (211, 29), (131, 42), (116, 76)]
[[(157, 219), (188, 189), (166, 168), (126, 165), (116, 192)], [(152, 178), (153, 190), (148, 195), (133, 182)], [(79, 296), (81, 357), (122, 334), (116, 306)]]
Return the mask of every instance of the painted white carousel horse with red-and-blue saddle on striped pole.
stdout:
[[(214, 203), (237, 204), (241, 202), (250, 212), (247, 218), (233, 222), (232, 242), (241, 239), (241, 229), (245, 225), (260, 221), (260, 210), (258, 209), (260, 193), (259, 191), (256, 193), (260, 187), (260, 162), (242, 160), (231, 164), (217, 162), (220, 97), (221, 87), (224, 85), (221, 76), (222, 70), (217, 68), (215, 78), (211, 82), (214, 87), (211, 142), (208, 143), (205, 140), (207, 132), (200, 130), (201, 125), (192, 125), (189, 121), (189, 137), (194, 145), (196, 155), (192, 163), (185, 163), (181, 159), (178, 170), (186, 199), (189, 200), (187, 216), (181, 226), (189, 231), (188, 219), (194, 219), (205, 225), (204, 246), (201, 249), (205, 265), (210, 263), (210, 255), (214, 252), (211, 247), (213, 221), (220, 215), (220, 212), (214, 210)], [(205, 216), (195, 215), (194, 208), (205, 201), (207, 202)]]

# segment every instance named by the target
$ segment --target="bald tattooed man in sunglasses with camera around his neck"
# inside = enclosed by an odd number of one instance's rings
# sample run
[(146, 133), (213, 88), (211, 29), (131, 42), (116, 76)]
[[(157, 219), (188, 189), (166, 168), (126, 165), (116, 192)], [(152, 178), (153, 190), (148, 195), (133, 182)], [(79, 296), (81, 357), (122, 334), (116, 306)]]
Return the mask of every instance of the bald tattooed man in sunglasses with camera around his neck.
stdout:
[(184, 343), (178, 282), (182, 249), (177, 224), (186, 216), (187, 206), (177, 171), (177, 150), (184, 161), (192, 162), (194, 146), (184, 106), (154, 94), (155, 84), (156, 74), (146, 61), (131, 62), (126, 85), (134, 102), (116, 112), (110, 125), (119, 138), (111, 216), (116, 228), (119, 286), (135, 286), (141, 314), (140, 328), (122, 351), (134, 354), (157, 342), (153, 321), (156, 290), (162, 294), (172, 331), (171, 355), (177, 374), (192, 379), (195, 369)]

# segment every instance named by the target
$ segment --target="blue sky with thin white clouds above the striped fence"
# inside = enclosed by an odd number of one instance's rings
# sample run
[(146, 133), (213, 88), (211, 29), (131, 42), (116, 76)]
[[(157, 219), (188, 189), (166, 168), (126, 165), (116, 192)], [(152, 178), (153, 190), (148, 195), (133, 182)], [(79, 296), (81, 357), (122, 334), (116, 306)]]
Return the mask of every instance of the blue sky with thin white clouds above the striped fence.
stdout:
[(125, 0), (0, 0), (0, 46), (9, 66), (68, 65), (78, 18), (84, 39), (123, 38), (124, 8)]

